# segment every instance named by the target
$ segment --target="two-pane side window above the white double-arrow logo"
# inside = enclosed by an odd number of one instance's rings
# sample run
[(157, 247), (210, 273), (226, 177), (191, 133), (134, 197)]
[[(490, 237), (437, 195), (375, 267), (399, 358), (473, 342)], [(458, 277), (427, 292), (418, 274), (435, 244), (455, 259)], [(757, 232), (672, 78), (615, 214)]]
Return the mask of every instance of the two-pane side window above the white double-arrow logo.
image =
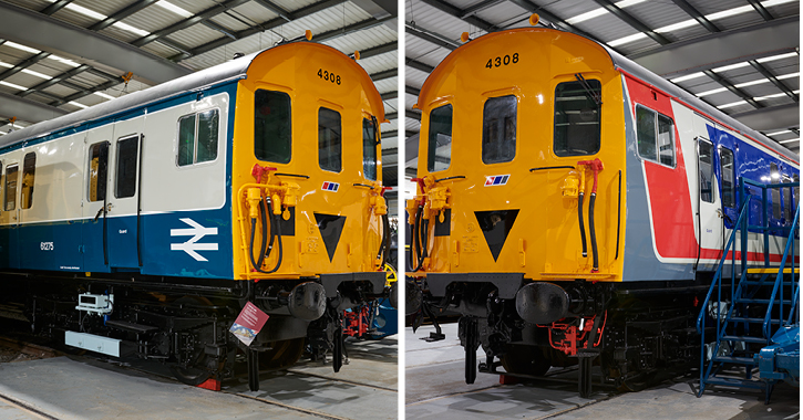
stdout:
[(178, 119), (178, 166), (217, 159), (218, 120), (217, 109)]

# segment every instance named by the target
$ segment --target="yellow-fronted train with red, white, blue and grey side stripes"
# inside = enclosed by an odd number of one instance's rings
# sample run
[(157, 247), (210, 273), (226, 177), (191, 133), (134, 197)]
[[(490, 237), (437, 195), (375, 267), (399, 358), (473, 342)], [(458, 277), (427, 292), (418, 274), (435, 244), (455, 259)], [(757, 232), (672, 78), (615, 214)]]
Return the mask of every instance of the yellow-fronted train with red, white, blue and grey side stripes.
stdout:
[[(797, 155), (581, 35), (533, 24), (463, 41), (413, 106), (412, 325), (460, 314), (467, 384), (477, 369), (579, 365), (587, 396), (593, 365), (620, 389), (693, 367), (694, 322), (733, 254), (739, 180), (780, 186), (765, 201), (769, 240), (751, 230), (735, 252), (778, 266)], [(745, 211), (760, 224), (761, 203)]]

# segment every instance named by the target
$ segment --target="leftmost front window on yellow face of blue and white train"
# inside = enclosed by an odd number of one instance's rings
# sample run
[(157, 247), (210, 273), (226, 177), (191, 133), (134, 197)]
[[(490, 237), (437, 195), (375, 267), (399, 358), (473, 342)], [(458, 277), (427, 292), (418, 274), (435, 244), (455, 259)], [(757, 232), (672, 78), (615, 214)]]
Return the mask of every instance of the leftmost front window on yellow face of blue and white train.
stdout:
[(259, 160), (290, 161), (290, 95), (257, 90), (254, 104), (254, 154)]

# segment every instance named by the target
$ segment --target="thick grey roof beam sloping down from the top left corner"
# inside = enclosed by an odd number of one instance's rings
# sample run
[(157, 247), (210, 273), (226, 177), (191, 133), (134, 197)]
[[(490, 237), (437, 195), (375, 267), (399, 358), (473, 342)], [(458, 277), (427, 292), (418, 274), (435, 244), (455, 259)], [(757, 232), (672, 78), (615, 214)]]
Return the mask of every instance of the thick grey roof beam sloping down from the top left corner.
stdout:
[(58, 19), (24, 8), (0, 2), (0, 38), (42, 51), (80, 57), (83, 63), (101, 64), (130, 71), (151, 84), (174, 80), (192, 73), (122, 41), (87, 31)]

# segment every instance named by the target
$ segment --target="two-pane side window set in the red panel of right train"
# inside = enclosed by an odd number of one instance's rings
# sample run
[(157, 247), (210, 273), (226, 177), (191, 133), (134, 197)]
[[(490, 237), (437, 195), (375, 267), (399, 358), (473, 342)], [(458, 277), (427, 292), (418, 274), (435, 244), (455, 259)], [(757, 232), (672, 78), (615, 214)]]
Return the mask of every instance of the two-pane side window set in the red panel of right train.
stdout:
[[(675, 123), (672, 118), (644, 106), (637, 106), (636, 137), (639, 156), (675, 167)], [(711, 159), (713, 160), (712, 157)]]

